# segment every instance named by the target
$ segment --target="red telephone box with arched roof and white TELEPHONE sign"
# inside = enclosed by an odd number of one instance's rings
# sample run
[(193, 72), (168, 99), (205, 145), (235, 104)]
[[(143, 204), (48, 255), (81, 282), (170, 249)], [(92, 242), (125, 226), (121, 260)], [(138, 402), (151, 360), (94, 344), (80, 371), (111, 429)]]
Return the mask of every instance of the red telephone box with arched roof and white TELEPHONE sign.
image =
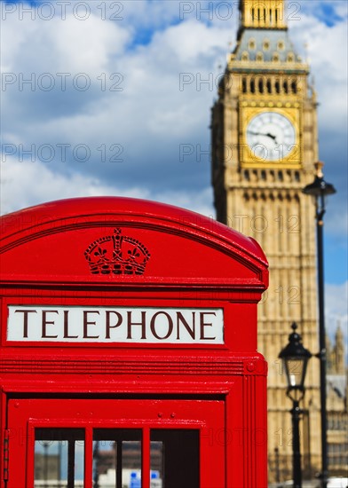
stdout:
[(184, 209), (2, 218), (5, 488), (266, 487), (254, 240)]

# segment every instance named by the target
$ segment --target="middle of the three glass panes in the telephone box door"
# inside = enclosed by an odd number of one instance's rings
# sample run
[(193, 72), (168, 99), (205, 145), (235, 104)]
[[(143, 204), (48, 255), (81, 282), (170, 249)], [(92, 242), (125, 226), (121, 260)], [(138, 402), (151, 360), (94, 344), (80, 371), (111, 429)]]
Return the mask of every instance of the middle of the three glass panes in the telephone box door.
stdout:
[(95, 429), (93, 488), (141, 488), (141, 430)]

